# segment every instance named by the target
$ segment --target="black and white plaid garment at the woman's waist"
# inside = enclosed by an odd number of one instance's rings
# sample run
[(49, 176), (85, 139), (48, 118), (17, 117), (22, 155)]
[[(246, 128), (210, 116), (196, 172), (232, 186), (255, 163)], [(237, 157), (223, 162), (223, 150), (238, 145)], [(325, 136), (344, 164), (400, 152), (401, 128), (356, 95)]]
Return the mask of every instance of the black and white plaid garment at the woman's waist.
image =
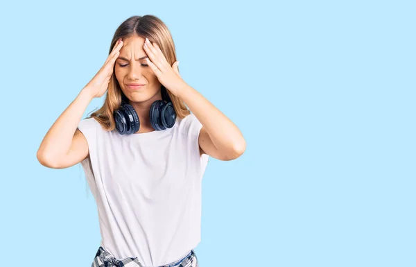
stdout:
[[(100, 246), (91, 267), (149, 267), (139, 262), (137, 257), (116, 259), (110, 252)], [(159, 267), (198, 267), (198, 258), (193, 250), (182, 259)]]

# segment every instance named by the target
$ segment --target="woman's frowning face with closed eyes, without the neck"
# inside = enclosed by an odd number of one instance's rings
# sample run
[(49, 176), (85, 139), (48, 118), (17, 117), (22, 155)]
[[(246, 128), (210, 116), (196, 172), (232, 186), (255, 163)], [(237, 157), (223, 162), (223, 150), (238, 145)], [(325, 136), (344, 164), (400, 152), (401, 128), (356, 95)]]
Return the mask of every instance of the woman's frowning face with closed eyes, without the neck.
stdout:
[[(146, 62), (148, 55), (143, 46), (143, 37), (123, 38), (123, 47), (114, 67), (114, 75), (121, 90), (132, 102), (153, 102), (157, 99), (161, 87), (157, 76)], [(143, 86), (129, 87), (131, 83), (139, 83)]]

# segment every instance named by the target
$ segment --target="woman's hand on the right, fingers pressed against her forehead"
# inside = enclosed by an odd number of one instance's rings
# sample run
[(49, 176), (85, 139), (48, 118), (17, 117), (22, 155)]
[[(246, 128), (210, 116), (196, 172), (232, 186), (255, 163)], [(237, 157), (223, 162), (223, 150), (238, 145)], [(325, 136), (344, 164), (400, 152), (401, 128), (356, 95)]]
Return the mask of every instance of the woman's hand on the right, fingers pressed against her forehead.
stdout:
[(183, 88), (185, 84), (179, 74), (179, 69), (177, 68), (179, 61), (175, 61), (171, 67), (159, 46), (157, 46), (157, 44), (152, 44), (147, 38), (144, 42), (144, 51), (148, 55), (146, 61), (150, 69), (152, 69), (153, 73), (157, 76), (159, 82), (173, 95), (178, 96), (180, 89)]

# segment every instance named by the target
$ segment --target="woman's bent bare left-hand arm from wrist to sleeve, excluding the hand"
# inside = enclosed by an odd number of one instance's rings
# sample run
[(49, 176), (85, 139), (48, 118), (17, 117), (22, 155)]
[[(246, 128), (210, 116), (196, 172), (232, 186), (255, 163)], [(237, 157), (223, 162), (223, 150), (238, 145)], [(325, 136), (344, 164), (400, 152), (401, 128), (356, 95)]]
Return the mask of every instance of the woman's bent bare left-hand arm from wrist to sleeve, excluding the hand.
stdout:
[(36, 156), (40, 164), (63, 169), (88, 157), (87, 139), (77, 127), (92, 98), (85, 87), (53, 123), (37, 150)]

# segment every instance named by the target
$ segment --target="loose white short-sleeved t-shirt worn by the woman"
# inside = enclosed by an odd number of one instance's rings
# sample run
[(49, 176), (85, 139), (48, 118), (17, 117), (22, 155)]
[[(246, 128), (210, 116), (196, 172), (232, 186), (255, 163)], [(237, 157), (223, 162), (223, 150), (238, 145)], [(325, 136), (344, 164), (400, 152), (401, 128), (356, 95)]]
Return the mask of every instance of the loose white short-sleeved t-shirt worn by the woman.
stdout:
[(81, 162), (98, 209), (101, 246), (144, 266), (181, 259), (200, 242), (202, 124), (194, 114), (173, 128), (132, 135), (106, 131), (94, 118), (78, 129), (89, 157)]

